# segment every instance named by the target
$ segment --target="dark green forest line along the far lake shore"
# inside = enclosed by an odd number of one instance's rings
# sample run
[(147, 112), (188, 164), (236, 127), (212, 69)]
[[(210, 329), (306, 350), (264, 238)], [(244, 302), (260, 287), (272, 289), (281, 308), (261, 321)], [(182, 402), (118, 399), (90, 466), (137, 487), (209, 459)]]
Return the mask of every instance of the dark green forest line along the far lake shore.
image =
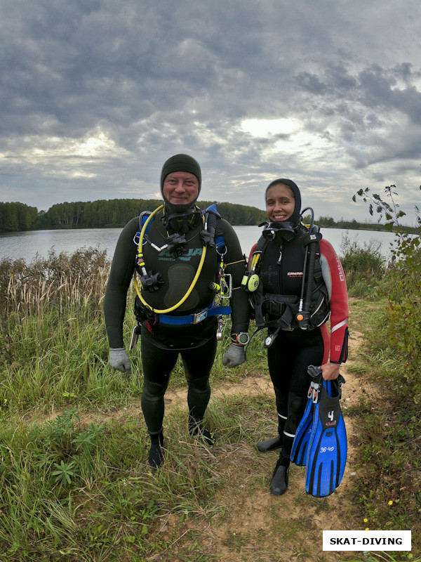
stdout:
[[(198, 202), (206, 209), (213, 202)], [(47, 211), (13, 202), (0, 202), (0, 233), (18, 233), (27, 230), (54, 230), (76, 228), (123, 228), (133, 216), (142, 211), (156, 209), (161, 200), (114, 199), (93, 202), (55, 204)], [(229, 223), (236, 226), (255, 226), (267, 220), (262, 209), (232, 203), (218, 203), (218, 211)], [(305, 222), (307, 217), (305, 217)], [(309, 222), (309, 220), (307, 221)], [(319, 216), (316, 224), (321, 228), (342, 228), (345, 230), (392, 230), (388, 223), (360, 223), (355, 220), (335, 221), (329, 216)], [(401, 226), (403, 232), (413, 234), (416, 228)]]

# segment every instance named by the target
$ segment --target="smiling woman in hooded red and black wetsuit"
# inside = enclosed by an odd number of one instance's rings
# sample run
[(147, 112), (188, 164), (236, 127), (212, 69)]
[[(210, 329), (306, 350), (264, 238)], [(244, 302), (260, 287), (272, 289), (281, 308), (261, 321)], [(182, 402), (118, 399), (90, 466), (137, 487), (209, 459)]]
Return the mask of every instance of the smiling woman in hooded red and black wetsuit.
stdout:
[[(269, 227), (274, 233), (260, 256), (260, 306), (265, 295), (290, 295), (300, 298), (305, 269), (305, 229), (300, 226), (301, 195), (291, 180), (269, 184), (265, 195)], [(256, 244), (257, 245), (257, 244)], [(250, 261), (253, 256), (253, 247)], [(288, 487), (288, 467), (295, 431), (307, 403), (309, 365), (320, 366), (323, 379), (337, 379), (340, 365), (347, 359), (348, 298), (342, 265), (327, 240), (319, 241), (319, 266), (330, 305), (330, 333), (324, 322), (319, 327), (301, 329), (296, 322), (277, 331), (267, 349), (269, 374), (274, 385), (279, 435), (258, 443), (258, 450), (281, 449), (270, 485), (274, 495)], [(259, 304), (258, 304), (259, 306)], [(263, 304), (264, 311), (267, 311)], [(262, 311), (260, 310), (260, 313)], [(274, 334), (268, 329), (268, 334)]]

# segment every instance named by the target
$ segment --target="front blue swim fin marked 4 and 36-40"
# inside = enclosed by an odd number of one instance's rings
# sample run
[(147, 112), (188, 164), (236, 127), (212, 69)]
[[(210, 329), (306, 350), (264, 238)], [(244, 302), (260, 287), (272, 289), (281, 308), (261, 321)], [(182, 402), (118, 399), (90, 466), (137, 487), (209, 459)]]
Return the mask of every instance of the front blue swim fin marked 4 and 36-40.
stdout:
[[(332, 494), (342, 481), (347, 461), (347, 431), (340, 410), (342, 375), (320, 386), (313, 404), (313, 423), (307, 445), (305, 491), (315, 497)], [(329, 388), (330, 386), (330, 388)]]

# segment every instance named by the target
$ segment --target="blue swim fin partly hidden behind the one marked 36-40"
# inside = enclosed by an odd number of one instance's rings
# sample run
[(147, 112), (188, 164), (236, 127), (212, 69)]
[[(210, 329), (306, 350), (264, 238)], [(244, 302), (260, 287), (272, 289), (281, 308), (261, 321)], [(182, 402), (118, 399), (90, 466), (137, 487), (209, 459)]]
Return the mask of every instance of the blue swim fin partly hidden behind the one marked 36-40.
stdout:
[[(307, 464), (307, 453), (309, 440), (312, 435), (313, 426), (313, 405), (317, 402), (319, 396), (319, 388), (321, 387), (321, 371), (319, 369), (310, 369), (309, 374), (313, 377), (312, 383), (309, 387), (307, 394), (307, 405), (304, 414), (298, 424), (297, 431), (295, 431), (293, 447), (291, 449), (290, 459), (298, 466), (305, 466)], [(328, 392), (330, 392), (330, 381), (328, 381)]]

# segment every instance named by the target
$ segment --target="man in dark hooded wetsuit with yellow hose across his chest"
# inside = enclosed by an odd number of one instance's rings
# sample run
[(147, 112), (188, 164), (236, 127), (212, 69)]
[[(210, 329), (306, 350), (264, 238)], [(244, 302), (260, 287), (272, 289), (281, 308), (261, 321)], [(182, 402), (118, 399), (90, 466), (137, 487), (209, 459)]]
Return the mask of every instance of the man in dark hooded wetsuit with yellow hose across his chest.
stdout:
[[(215, 290), (211, 287), (218, 278), (220, 256), (212, 235), (208, 242), (203, 213), (195, 205), (200, 189), (199, 163), (188, 155), (169, 158), (161, 171), (163, 209), (150, 221), (142, 245), (150, 287), (147, 290), (147, 282), (139, 284), (143, 301), (141, 402), (151, 438), (149, 464), (155, 468), (163, 463), (163, 397), (179, 353), (188, 384), (189, 433), (208, 445), (213, 443), (202, 421), (210, 399), (209, 375), (217, 346), (218, 310), (213, 309)], [(232, 275), (232, 344), (222, 362), (236, 367), (245, 360), (244, 342), (248, 341), (248, 301), (241, 289), (246, 261), (232, 226), (219, 217), (213, 222), (215, 234), (223, 237), (225, 245), (225, 273)], [(123, 320), (138, 255), (138, 245), (133, 242), (138, 230), (138, 217), (123, 228), (105, 292), (109, 362), (121, 372), (131, 372), (123, 342)], [(200, 274), (194, 282), (198, 269)]]

